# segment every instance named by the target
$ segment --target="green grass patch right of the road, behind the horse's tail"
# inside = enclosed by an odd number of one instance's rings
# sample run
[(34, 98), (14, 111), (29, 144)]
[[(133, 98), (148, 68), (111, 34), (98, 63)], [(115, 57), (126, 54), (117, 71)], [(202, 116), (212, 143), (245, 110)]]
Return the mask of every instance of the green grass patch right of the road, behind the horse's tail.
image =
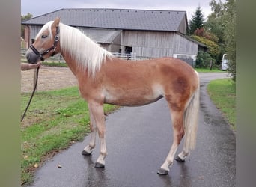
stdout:
[(207, 85), (210, 99), (222, 111), (225, 119), (236, 129), (236, 85), (231, 79), (216, 79)]

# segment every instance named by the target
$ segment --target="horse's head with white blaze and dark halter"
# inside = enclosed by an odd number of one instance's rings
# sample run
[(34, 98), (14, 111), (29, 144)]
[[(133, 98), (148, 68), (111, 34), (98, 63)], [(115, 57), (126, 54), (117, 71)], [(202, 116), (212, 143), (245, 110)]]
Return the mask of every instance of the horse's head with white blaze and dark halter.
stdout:
[(34, 43), (26, 52), (28, 63), (36, 64), (44, 61), (59, 52), (59, 22), (56, 18), (53, 22), (47, 22), (35, 37)]

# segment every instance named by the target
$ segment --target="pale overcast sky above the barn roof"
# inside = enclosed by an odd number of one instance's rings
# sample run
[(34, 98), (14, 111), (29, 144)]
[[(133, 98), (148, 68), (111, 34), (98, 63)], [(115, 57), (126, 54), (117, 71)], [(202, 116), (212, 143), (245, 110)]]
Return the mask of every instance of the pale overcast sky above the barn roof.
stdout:
[(122, 8), (142, 10), (185, 10), (188, 20), (200, 5), (204, 19), (211, 13), (210, 0), (21, 0), (21, 14), (40, 16), (61, 8)]

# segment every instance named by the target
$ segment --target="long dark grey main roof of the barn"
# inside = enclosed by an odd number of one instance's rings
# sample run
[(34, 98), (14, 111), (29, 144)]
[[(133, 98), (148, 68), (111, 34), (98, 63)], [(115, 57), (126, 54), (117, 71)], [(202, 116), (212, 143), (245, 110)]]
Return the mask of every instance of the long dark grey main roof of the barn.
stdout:
[(66, 25), (86, 28), (114, 28), (143, 31), (179, 31), (186, 20), (186, 11), (128, 10), (99, 8), (64, 8), (22, 22), (24, 25), (44, 25), (60, 17)]

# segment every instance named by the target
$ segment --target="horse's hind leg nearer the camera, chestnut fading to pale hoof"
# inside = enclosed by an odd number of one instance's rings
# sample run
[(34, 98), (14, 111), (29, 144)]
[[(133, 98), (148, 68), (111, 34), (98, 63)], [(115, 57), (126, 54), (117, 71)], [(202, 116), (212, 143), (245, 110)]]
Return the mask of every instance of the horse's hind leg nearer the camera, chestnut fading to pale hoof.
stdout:
[[(170, 107), (171, 108), (171, 107)], [(173, 124), (173, 135), (174, 135), (174, 141), (171, 145), (171, 150), (168, 153), (168, 156), (165, 159), (165, 162), (162, 164), (161, 168), (159, 168), (159, 171), (157, 174), (168, 174), (169, 166), (174, 161), (174, 155), (177, 152), (177, 147), (180, 144), (181, 139), (184, 135), (184, 127), (183, 127), (183, 110), (179, 111), (172, 111), (171, 113), (171, 120)]]

